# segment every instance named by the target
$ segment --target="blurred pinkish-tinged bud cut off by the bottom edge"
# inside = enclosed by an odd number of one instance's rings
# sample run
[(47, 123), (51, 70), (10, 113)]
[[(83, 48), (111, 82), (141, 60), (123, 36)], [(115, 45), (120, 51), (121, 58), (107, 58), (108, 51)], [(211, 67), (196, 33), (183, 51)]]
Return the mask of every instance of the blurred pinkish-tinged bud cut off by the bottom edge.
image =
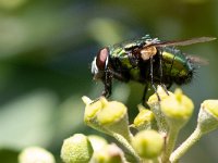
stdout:
[(116, 145), (105, 146), (99, 152), (96, 152), (92, 159), (94, 163), (123, 163), (124, 154)]

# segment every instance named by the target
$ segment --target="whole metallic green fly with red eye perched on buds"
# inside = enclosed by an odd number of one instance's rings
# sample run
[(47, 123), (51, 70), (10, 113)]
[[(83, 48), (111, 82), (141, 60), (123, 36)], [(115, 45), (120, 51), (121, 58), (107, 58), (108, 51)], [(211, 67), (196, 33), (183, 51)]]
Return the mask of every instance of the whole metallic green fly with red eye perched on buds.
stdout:
[(211, 37), (192, 38), (182, 41), (160, 41), (146, 35), (142, 38), (102, 48), (92, 63), (94, 79), (105, 85), (102, 96), (111, 95), (112, 78), (121, 82), (134, 80), (145, 85), (143, 100), (148, 85), (170, 86), (187, 84), (193, 78), (194, 58), (187, 57), (175, 46), (214, 40)]

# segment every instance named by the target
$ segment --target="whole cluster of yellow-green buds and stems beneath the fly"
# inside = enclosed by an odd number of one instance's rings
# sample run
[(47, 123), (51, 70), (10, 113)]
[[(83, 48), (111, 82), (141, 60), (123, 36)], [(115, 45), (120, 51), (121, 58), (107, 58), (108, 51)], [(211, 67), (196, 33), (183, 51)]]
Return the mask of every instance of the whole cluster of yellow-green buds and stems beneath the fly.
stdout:
[(65, 163), (178, 162), (204, 134), (218, 128), (218, 100), (206, 100), (202, 103), (195, 131), (174, 148), (181, 128), (194, 111), (192, 100), (181, 89), (170, 92), (158, 86), (147, 101), (149, 108), (138, 105), (133, 124), (129, 122), (128, 108), (121, 102), (104, 97), (96, 101), (82, 99), (86, 104), (84, 122), (116, 138), (122, 148), (98, 136), (76, 134), (63, 142), (61, 158)]

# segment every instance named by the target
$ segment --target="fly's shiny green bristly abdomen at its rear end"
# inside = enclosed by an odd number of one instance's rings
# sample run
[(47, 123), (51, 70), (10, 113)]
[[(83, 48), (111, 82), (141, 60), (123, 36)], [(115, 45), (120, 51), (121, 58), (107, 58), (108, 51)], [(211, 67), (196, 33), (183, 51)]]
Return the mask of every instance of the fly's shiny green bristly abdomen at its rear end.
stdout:
[(162, 72), (170, 76), (175, 84), (182, 85), (191, 82), (193, 65), (191, 61), (174, 48), (162, 48)]

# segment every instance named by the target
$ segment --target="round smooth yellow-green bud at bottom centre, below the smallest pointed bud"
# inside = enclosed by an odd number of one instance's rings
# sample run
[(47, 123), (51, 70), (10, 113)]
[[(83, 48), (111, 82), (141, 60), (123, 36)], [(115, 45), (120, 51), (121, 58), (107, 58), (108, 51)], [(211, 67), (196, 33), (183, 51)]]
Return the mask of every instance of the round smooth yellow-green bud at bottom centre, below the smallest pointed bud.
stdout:
[(155, 159), (162, 151), (164, 138), (156, 130), (143, 130), (135, 135), (132, 145), (140, 156)]

